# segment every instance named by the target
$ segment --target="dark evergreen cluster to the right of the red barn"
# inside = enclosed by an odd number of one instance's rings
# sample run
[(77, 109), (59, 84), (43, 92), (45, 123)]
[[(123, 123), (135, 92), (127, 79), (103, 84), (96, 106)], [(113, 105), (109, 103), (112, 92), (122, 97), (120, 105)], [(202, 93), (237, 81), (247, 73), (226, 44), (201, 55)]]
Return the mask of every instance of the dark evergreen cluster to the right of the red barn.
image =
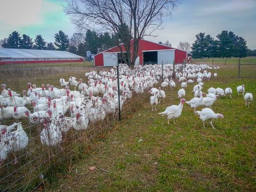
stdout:
[(216, 39), (205, 33), (197, 34), (191, 49), (193, 58), (243, 58), (248, 52), (245, 39), (227, 30), (221, 31)]

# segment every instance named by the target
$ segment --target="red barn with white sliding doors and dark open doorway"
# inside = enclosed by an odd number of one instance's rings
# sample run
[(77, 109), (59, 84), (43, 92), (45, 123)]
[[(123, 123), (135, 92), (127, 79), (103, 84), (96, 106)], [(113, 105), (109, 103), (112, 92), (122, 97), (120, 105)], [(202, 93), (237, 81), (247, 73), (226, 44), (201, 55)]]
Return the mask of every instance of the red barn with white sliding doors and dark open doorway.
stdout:
[[(131, 45), (133, 40), (131, 40)], [(124, 45), (121, 45), (122, 51), (125, 52)], [(133, 52), (133, 46), (131, 46), (131, 52)], [(133, 54), (133, 53), (131, 53)], [(141, 39), (139, 41), (138, 57), (135, 61), (136, 64), (145, 65), (151, 64), (162, 64), (165, 63), (183, 63), (187, 61), (188, 54), (186, 51), (175, 49), (170, 46), (154, 43)], [(94, 66), (95, 67), (110, 67), (115, 66), (117, 61), (120, 63), (120, 49), (119, 47), (112, 47), (106, 51), (94, 55)]]

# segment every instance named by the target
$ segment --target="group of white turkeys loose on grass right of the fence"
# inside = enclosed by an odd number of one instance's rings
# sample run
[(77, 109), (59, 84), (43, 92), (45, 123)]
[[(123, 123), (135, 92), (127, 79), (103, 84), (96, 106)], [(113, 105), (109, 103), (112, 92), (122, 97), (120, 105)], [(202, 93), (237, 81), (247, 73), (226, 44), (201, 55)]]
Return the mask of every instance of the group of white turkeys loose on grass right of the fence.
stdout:
[[(211, 109), (211, 106), (219, 97), (226, 96), (226, 97), (232, 98), (231, 94), (233, 93), (233, 91), (230, 87), (227, 87), (225, 90), (221, 89), (220, 87), (218, 87), (217, 89), (210, 87), (207, 90), (208, 94), (203, 93), (202, 89), (203, 89), (204, 83), (202, 81), (203, 80), (210, 81), (212, 74), (211, 72), (207, 72), (207, 67), (206, 68), (201, 68), (200, 66), (194, 66), (194, 67), (196, 68), (193, 68), (192, 66), (188, 65), (186, 68), (182, 70), (182, 73), (175, 74), (175, 77), (179, 79), (178, 82), (181, 83), (181, 89), (178, 91), (178, 98), (180, 99), (180, 103), (178, 106), (172, 105), (170, 107), (167, 107), (165, 111), (163, 111), (162, 113), (159, 113), (159, 115), (167, 116), (167, 120), (168, 120), (167, 124), (170, 125), (170, 119), (173, 119), (173, 123), (175, 124), (175, 118), (178, 118), (181, 115), (183, 105), (187, 103), (191, 108), (194, 109), (194, 113), (196, 115), (199, 115), (199, 118), (203, 122), (204, 128), (205, 128), (204, 122), (207, 120), (210, 120), (210, 125), (212, 126), (213, 129), (215, 129), (214, 126), (212, 125), (212, 120), (214, 118), (223, 118), (224, 116), (222, 114), (214, 113), (214, 111)], [(203, 73), (201, 73), (201, 70), (204, 70)], [(196, 71), (197, 73), (195, 73)], [(217, 76), (218, 74), (214, 73), (213, 77), (217, 78)], [(186, 95), (187, 84), (194, 83), (195, 78), (198, 84), (194, 86), (192, 91), (194, 93), (194, 98), (189, 101), (186, 101), (184, 97)], [(164, 82), (161, 84), (161, 86), (163, 87), (163, 89), (165, 89), (169, 85), (172, 91), (176, 87), (176, 83), (173, 81), (172, 78), (169, 80), (168, 77), (165, 77)], [(237, 86), (238, 96), (239, 96), (239, 93), (242, 93), (243, 98), (245, 100), (245, 105), (250, 107), (250, 103), (253, 100), (253, 95), (252, 93), (244, 94), (244, 92), (245, 92), (245, 85)], [(152, 110), (157, 110), (156, 106), (161, 101), (161, 99), (165, 98), (165, 92), (161, 90), (161, 87), (159, 87), (159, 89), (156, 89), (155, 87), (153, 87), (148, 93), (153, 95), (150, 97), (150, 105), (152, 106)], [(159, 102), (158, 102), (158, 99), (159, 99)], [(201, 111), (197, 111), (196, 108), (201, 106), (206, 108), (203, 108)]]

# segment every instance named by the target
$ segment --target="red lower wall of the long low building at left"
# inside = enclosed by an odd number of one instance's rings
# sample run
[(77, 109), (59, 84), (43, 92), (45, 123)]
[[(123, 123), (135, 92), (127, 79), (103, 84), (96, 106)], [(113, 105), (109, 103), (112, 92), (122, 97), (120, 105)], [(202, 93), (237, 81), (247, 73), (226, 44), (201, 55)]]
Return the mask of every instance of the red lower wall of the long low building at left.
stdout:
[(34, 61), (0, 61), (0, 65), (6, 64), (34, 64), (34, 63), (64, 63), (64, 62), (83, 62), (83, 59), (77, 60), (34, 60)]

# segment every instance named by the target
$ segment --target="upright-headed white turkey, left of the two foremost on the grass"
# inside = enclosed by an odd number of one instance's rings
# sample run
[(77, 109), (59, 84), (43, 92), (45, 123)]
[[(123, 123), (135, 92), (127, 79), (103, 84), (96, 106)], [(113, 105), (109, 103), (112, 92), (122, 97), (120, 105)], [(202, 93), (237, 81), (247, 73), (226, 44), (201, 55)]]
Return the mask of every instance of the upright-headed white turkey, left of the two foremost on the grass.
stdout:
[(177, 105), (172, 105), (170, 107), (167, 107), (165, 111), (162, 113), (159, 113), (159, 115), (166, 115), (168, 119), (168, 124), (170, 125), (169, 121), (170, 119), (173, 119), (173, 123), (175, 124), (174, 119), (178, 118), (181, 115), (182, 109), (183, 109), (183, 104), (185, 103), (186, 99), (181, 99), (180, 104)]

